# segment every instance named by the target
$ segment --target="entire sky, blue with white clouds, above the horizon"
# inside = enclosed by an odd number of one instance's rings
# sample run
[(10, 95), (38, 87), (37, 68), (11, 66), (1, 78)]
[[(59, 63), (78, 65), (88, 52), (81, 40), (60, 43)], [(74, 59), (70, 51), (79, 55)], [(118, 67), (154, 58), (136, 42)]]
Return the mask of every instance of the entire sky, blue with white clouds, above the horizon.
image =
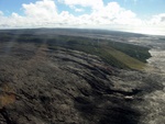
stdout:
[(165, 0), (0, 0), (0, 29), (36, 27), (165, 35)]

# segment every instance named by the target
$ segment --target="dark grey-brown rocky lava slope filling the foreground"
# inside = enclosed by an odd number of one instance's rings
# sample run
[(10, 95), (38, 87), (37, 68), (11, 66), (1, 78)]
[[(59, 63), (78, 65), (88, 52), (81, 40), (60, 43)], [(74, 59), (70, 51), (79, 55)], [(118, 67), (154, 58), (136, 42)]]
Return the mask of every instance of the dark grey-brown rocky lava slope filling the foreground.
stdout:
[(0, 124), (147, 124), (146, 95), (164, 88), (160, 75), (84, 52), (0, 44)]

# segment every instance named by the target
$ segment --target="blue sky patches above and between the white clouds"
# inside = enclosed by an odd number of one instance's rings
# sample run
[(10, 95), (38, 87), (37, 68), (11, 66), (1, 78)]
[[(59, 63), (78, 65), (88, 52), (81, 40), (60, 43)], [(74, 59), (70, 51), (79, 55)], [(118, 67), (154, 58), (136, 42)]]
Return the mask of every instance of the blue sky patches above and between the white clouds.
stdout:
[[(36, 2), (37, 0), (0, 0), (0, 11), (4, 12), (6, 15), (10, 15), (12, 12), (23, 14), (22, 4)], [(68, 10), (72, 12), (67, 5), (58, 3), (57, 0), (54, 0), (58, 5), (58, 10)], [(95, 0), (94, 0), (95, 1)], [(132, 10), (140, 18), (151, 16), (153, 14), (165, 13), (165, 0), (103, 0), (103, 3), (118, 2), (121, 7)], [(90, 11), (90, 10), (88, 10)], [(80, 13), (78, 13), (80, 14)]]

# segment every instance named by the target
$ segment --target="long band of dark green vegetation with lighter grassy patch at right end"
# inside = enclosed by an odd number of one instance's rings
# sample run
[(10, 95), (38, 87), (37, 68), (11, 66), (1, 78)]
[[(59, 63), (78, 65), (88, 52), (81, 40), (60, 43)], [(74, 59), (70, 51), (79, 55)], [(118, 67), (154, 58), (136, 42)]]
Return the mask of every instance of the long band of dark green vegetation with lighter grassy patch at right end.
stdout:
[(19, 43), (46, 44), (50, 49), (64, 47), (87, 54), (97, 55), (111, 66), (125, 69), (142, 69), (151, 57), (147, 47), (119, 43), (106, 40), (94, 40), (81, 36), (53, 35), (53, 34), (12, 34), (3, 33), (1, 42), (15, 41)]

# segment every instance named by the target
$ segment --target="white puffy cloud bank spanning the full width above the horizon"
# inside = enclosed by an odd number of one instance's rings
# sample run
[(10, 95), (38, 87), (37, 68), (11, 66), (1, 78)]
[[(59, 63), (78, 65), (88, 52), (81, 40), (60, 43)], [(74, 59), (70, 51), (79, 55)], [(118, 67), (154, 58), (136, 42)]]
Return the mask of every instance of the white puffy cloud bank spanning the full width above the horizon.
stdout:
[[(61, 9), (62, 5), (69, 10)], [(38, 0), (22, 3), (20, 9), (23, 14), (12, 12), (10, 15), (0, 9), (0, 29), (82, 27), (165, 35), (165, 12), (141, 19), (116, 1)]]

